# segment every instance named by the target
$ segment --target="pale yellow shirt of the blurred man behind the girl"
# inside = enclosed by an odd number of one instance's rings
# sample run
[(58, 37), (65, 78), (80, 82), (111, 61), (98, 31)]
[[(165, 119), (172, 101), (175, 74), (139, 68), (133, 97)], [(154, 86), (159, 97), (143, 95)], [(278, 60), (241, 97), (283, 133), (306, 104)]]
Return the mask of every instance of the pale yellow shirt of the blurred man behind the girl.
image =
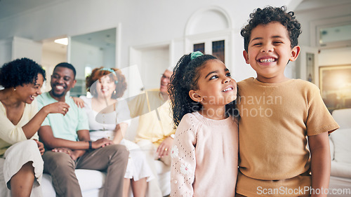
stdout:
[(135, 142), (150, 140), (158, 147), (166, 137), (176, 133), (171, 102), (164, 100), (159, 89), (147, 90), (146, 94), (134, 97), (128, 102), (128, 107), (132, 118), (140, 116)]

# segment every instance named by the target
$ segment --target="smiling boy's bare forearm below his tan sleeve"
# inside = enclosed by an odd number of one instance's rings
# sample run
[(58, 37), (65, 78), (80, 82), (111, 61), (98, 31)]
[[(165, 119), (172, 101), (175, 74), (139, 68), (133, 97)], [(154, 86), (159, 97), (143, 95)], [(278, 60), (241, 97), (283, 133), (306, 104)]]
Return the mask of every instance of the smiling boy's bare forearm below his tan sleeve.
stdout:
[(308, 144), (311, 151), (312, 189), (322, 191), (318, 195), (312, 192), (311, 197), (326, 196), (328, 194), (326, 191), (329, 189), (331, 169), (328, 132), (308, 136)]

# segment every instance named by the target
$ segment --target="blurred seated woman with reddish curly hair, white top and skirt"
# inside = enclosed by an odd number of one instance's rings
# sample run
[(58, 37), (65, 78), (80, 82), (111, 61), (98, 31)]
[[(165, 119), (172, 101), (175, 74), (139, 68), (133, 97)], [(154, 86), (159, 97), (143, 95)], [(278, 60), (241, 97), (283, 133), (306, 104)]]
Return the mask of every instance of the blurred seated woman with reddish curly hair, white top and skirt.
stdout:
[(127, 147), (130, 154), (124, 175), (123, 196), (128, 196), (131, 185), (133, 196), (145, 197), (147, 182), (154, 176), (140, 147), (124, 139), (131, 123), (128, 104), (120, 99), (127, 88), (126, 78), (119, 69), (95, 68), (86, 77), (86, 88), (93, 97), (80, 98), (88, 115), (91, 140), (111, 138), (114, 144)]

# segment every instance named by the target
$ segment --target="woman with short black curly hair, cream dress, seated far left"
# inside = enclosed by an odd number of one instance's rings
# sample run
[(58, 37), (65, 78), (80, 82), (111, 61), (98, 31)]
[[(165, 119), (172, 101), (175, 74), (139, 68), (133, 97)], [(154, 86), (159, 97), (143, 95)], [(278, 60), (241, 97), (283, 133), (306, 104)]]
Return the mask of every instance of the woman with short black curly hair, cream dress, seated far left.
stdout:
[(48, 114), (65, 115), (69, 108), (57, 102), (38, 111), (34, 97), (41, 94), (44, 81), (44, 69), (28, 58), (0, 68), (0, 196), (8, 196), (8, 189), (11, 196), (42, 196), (44, 145), (37, 130)]

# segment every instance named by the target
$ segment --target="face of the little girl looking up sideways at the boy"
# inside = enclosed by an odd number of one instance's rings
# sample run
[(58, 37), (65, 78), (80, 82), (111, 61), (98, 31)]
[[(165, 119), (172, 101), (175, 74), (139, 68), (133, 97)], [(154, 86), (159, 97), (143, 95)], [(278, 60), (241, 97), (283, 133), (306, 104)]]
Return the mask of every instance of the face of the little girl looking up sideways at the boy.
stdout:
[(224, 107), (237, 99), (237, 83), (220, 60), (208, 60), (199, 71), (198, 90), (190, 90), (192, 100), (206, 108)]

